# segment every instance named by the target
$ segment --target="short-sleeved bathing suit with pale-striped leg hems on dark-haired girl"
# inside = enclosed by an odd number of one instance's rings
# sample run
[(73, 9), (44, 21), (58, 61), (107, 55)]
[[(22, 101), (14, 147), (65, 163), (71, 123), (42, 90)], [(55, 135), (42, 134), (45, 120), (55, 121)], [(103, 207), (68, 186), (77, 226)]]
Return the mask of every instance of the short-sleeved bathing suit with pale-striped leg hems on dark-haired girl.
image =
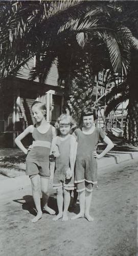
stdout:
[(81, 129), (74, 131), (77, 139), (77, 156), (75, 164), (75, 183), (77, 191), (92, 191), (93, 184), (97, 183), (97, 161), (93, 155), (99, 141), (103, 140), (105, 135), (102, 129), (95, 127), (91, 134), (84, 134)]

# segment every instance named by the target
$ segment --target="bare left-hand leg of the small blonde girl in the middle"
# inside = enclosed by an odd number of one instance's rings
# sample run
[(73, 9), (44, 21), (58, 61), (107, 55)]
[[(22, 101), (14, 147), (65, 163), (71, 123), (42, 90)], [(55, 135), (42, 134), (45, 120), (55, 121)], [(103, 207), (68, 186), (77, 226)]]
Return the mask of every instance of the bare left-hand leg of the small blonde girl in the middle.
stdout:
[(58, 205), (58, 215), (53, 218), (53, 221), (57, 221), (62, 218), (63, 215), (63, 188), (57, 189), (57, 205)]

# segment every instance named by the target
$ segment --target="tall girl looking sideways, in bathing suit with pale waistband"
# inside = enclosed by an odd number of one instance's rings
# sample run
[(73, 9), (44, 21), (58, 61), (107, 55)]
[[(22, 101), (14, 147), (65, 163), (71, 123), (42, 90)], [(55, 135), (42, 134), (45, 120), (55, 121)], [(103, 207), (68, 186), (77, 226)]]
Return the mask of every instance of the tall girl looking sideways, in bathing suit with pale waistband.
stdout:
[[(32, 219), (34, 223), (42, 217), (39, 186), (41, 186), (43, 209), (48, 211), (51, 215), (55, 214), (55, 211), (48, 206), (48, 188), (50, 178), (49, 155), (52, 138), (56, 136), (56, 129), (46, 121), (47, 109), (43, 103), (35, 101), (31, 108), (36, 124), (28, 126), (27, 129), (15, 139), (15, 143), (20, 150), (27, 155), (26, 174), (29, 175), (31, 179), (32, 194), (37, 210), (36, 217)], [(21, 140), (29, 133), (32, 134), (34, 141), (32, 150), (28, 152), (21, 143)]]

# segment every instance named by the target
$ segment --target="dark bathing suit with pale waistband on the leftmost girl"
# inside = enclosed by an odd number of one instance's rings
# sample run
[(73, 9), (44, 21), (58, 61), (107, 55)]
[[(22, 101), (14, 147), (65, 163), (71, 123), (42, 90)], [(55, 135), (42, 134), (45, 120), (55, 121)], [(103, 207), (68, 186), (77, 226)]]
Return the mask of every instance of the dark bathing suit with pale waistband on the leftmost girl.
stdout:
[(50, 177), (50, 148), (52, 142), (52, 125), (46, 133), (40, 133), (36, 127), (32, 133), (33, 148), (26, 159), (26, 175), (32, 177), (39, 174), (43, 178)]

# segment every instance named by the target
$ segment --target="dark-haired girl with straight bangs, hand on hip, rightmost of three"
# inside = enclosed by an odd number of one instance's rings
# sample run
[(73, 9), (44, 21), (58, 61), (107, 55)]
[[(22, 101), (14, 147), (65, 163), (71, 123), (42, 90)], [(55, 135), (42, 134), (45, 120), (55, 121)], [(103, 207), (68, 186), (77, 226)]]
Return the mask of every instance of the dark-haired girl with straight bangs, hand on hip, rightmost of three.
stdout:
[[(85, 217), (88, 221), (94, 219), (89, 215), (89, 208), (93, 190), (93, 184), (97, 183), (97, 159), (102, 158), (111, 148), (113, 143), (104, 135), (101, 129), (94, 125), (96, 120), (95, 110), (85, 109), (81, 115), (82, 128), (76, 129), (74, 136), (77, 138), (78, 148), (75, 165), (75, 183), (79, 194), (80, 212), (72, 217), (77, 219)], [(102, 139), (106, 144), (105, 150), (98, 155), (96, 147)], [(93, 153), (93, 154), (92, 154)]]

